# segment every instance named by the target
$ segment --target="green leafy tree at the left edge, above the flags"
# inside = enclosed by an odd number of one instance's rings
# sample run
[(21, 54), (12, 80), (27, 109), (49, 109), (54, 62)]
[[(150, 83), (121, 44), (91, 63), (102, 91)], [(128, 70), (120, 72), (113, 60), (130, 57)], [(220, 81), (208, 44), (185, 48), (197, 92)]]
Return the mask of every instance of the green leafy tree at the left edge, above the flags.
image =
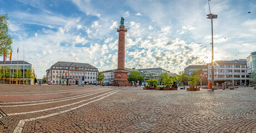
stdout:
[(12, 38), (8, 35), (9, 24), (7, 20), (7, 14), (0, 15), (0, 57), (3, 55), (3, 51), (8, 55), (9, 50), (11, 50)]

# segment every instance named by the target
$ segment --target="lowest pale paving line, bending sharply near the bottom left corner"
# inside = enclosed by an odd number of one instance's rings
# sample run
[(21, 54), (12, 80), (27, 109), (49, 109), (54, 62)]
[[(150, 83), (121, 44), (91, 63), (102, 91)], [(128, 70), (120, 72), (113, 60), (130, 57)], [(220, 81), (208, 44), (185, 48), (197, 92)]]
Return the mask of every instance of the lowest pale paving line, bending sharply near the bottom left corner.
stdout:
[(71, 108), (71, 109), (68, 109), (68, 110), (59, 111), (59, 112), (56, 112), (56, 113), (53, 113), (53, 114), (44, 115), (44, 116), (39, 116), (39, 117), (34, 117), (34, 118), (30, 118), (30, 119), (19, 120), (19, 123), (18, 123), (18, 125), (16, 126), (16, 128), (14, 129), (13, 132), (14, 132), (14, 133), (21, 133), (22, 130), (23, 130), (24, 124), (25, 124), (25, 122), (27, 122), (27, 121), (33, 121), (33, 120), (37, 120), (37, 119), (43, 119), (43, 118), (46, 118), (46, 117), (51, 117), (51, 116), (54, 116), (54, 115), (62, 114), (62, 113), (64, 113), (64, 112), (68, 112), (68, 111), (71, 111), (71, 110), (75, 110), (75, 109), (81, 108), (82, 106), (91, 104), (91, 103), (93, 103), (93, 102), (95, 102), (95, 101), (104, 99), (104, 98), (106, 98), (106, 97), (108, 97), (108, 96), (110, 96), (110, 95), (112, 95), (112, 94), (114, 94), (114, 93), (117, 93), (118, 91), (121, 91), (121, 90), (116, 90), (116, 91), (114, 91), (114, 92), (111, 93), (111, 94), (108, 94), (108, 95), (106, 95), (106, 96), (103, 96), (102, 98), (99, 98), (99, 99), (96, 99), (96, 100), (93, 100), (93, 101), (89, 101), (89, 102), (86, 103), (86, 104), (82, 104), (82, 105), (79, 105), (79, 106), (77, 106), (77, 107), (74, 107), (74, 108)]

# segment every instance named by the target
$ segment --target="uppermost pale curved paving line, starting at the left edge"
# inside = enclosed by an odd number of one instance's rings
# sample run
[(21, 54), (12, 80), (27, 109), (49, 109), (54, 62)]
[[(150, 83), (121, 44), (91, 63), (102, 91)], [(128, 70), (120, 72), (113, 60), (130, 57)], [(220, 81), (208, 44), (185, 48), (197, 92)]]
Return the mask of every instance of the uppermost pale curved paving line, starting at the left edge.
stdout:
[[(106, 90), (108, 91), (108, 90)], [(98, 93), (103, 93), (105, 91), (100, 91)], [(95, 93), (95, 92), (92, 92), (92, 93)], [(79, 96), (78, 98), (83, 98), (83, 97), (86, 97), (88, 96), (89, 94), (92, 94), (92, 93), (87, 93), (87, 94), (84, 94), (82, 96)], [(96, 93), (96, 94), (98, 94)], [(76, 96), (77, 97), (77, 96)], [(56, 100), (56, 101), (49, 101), (49, 102), (45, 102), (45, 103), (36, 103), (36, 104), (21, 104), (21, 105), (0, 105), (0, 107), (17, 107), (17, 106), (31, 106), (31, 105), (40, 105), (40, 104), (50, 104), (50, 103), (56, 103), (56, 102), (59, 102), (59, 101), (67, 101), (67, 100), (73, 100), (73, 99), (78, 99), (78, 98), (69, 98), (69, 99), (64, 99), (64, 100)], [(52, 99), (51, 99), (52, 100)], [(55, 99), (54, 99), (55, 100)]]

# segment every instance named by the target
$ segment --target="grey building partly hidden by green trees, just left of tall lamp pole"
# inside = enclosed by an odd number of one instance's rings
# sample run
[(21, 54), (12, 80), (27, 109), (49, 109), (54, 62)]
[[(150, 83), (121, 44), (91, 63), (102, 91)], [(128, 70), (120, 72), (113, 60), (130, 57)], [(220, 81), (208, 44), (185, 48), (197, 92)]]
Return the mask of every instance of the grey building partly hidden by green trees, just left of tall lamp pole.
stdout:
[(208, 69), (207, 65), (189, 65), (187, 68), (184, 68), (184, 72), (187, 74), (187, 76), (191, 76), (193, 71), (197, 71), (199, 69), (203, 70), (203, 75), (201, 75), (202, 78), (202, 85), (207, 85), (207, 78), (208, 78)]

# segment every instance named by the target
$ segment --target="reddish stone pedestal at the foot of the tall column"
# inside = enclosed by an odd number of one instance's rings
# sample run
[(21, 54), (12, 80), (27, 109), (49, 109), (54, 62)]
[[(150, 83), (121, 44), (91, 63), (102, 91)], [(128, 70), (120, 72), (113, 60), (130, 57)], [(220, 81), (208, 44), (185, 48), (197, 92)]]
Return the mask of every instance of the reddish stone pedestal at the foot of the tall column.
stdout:
[[(114, 86), (129, 86), (129, 81), (127, 80), (128, 71), (126, 69), (117, 69), (114, 71)], [(118, 75), (119, 78), (118, 78)]]

